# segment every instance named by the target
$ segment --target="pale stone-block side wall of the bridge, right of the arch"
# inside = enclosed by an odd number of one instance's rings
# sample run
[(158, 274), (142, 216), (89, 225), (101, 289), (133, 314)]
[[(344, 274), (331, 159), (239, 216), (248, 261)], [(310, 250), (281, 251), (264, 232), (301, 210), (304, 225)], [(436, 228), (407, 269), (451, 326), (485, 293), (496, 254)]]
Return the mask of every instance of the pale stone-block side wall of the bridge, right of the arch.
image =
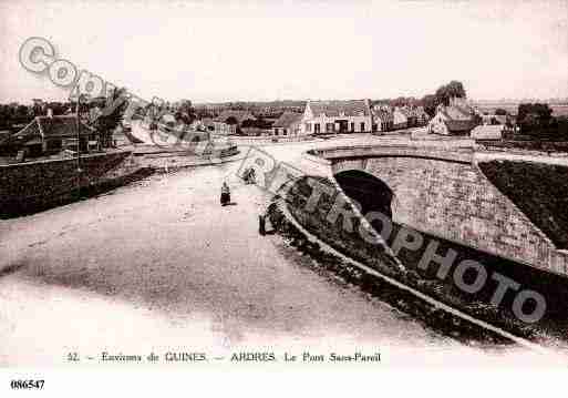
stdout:
[(557, 251), (473, 163), (447, 156), (412, 157), (407, 152), (363, 160), (323, 155), (332, 161), (333, 174), (358, 169), (386, 183), (395, 195), (392, 210), (396, 223), (568, 275), (567, 254)]

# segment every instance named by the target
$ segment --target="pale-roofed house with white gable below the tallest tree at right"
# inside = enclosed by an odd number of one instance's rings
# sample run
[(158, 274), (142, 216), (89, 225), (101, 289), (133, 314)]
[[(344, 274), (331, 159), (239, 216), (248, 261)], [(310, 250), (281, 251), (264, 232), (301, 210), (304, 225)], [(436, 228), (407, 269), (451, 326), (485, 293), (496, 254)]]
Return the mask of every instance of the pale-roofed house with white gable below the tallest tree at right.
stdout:
[(428, 123), (428, 132), (442, 135), (468, 135), (479, 124), (478, 115), (465, 99), (451, 99), (450, 105), (440, 104)]

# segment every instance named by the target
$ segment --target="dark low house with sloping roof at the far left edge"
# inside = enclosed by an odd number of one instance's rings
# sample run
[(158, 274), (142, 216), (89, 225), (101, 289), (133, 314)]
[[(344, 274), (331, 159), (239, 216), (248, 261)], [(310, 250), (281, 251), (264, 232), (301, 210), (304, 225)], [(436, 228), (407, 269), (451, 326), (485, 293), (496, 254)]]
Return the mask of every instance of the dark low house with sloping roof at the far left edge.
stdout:
[[(0, 142), (3, 153), (23, 151), (25, 156), (42, 156), (59, 153), (62, 150), (76, 151), (78, 119), (75, 115), (53, 116), (48, 110), (47, 116), (37, 116), (18, 133)], [(101, 149), (101, 134), (81, 122), (80, 149), (82, 152)]]

